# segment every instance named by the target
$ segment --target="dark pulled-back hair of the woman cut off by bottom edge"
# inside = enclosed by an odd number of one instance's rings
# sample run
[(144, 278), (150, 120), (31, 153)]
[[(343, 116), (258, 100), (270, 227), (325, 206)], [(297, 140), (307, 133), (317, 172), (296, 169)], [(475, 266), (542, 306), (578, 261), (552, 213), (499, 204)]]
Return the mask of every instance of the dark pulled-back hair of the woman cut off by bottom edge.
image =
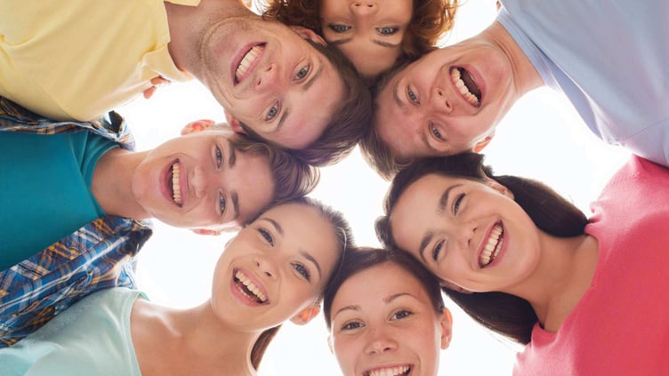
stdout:
[(385, 250), (364, 247), (344, 254), (339, 273), (336, 274), (332, 282), (326, 287), (326, 292), (323, 294), (323, 314), (328, 329), (332, 325), (332, 318), (330, 317), (332, 303), (342, 284), (351, 278), (351, 276), (355, 276), (363, 270), (386, 263), (397, 265), (399, 268), (406, 270), (411, 276), (414, 276), (430, 298), (434, 311), (439, 314), (441, 313), (445, 305), (439, 288), (439, 279), (436, 276), (433, 276), (423, 265), (406, 252), (399, 252), (395, 249)]

